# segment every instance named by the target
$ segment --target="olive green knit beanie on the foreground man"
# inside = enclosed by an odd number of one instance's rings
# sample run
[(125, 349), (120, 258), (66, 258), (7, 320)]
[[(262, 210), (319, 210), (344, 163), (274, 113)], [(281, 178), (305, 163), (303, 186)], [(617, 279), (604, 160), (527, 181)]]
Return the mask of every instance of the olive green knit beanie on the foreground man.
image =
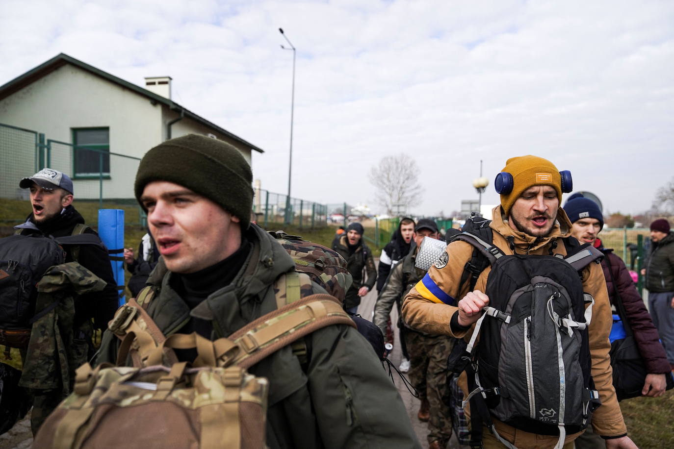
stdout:
[(229, 143), (196, 134), (160, 143), (138, 166), (134, 191), (139, 202), (145, 186), (152, 181), (175, 182), (204, 195), (239, 217), (242, 230), (250, 224), (253, 173), (239, 150)]

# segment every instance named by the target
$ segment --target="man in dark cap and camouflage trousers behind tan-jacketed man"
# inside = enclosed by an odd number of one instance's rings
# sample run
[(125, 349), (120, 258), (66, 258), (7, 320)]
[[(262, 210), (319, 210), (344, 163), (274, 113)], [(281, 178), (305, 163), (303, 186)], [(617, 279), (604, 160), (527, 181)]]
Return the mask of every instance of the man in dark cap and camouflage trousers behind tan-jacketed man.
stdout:
[[(381, 332), (386, 332), (388, 318), (393, 304), (400, 300), (426, 274), (415, 267), (417, 252), (424, 237), (439, 238), (435, 221), (422, 218), (412, 234), (415, 245), (391, 270), (384, 289), (379, 293), (374, 310), (374, 322)], [(402, 332), (404, 329), (404, 333)], [(400, 340), (406, 341), (410, 353), (410, 381), (419, 393), (421, 407), (417, 417), (428, 421), (428, 442), (430, 449), (441, 449), (447, 446), (452, 436), (452, 417), (450, 409), (443, 403), (443, 395), (447, 382), (447, 357), (454, 346), (454, 339), (447, 335), (429, 335), (411, 329), (401, 319)]]

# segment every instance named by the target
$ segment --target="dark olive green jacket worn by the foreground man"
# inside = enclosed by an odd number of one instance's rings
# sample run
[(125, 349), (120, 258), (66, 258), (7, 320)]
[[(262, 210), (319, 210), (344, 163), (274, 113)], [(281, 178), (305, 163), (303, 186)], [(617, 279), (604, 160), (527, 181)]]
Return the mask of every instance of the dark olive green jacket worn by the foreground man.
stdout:
[[(148, 314), (164, 335), (181, 329), (192, 314), (212, 320), (213, 339), (226, 337), (276, 309), (272, 285), (293, 270), (293, 259), (255, 225), (247, 238), (252, 249), (231, 285), (191, 311), (171, 288), (170, 271), (152, 273), (148, 282), (160, 290)], [(314, 283), (302, 285), (302, 296), (324, 292)], [(286, 346), (249, 369), (270, 380), (270, 448), (419, 447), (398, 391), (356, 329), (328, 326), (305, 337), (305, 343), (305, 368)], [(114, 362), (118, 346), (117, 337), (106, 331), (96, 364)]]

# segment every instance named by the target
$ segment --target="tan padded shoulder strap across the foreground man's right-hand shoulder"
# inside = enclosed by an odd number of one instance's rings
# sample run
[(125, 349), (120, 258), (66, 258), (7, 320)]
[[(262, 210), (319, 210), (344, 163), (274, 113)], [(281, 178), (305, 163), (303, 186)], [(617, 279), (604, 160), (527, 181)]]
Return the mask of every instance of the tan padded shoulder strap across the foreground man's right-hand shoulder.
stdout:
[(224, 366), (249, 368), (293, 341), (332, 324), (356, 327), (334, 296), (325, 293), (307, 296), (257, 318), (230, 335), (228, 340), (237, 345), (238, 351), (227, 349), (228, 354), (218, 354), (218, 361)]

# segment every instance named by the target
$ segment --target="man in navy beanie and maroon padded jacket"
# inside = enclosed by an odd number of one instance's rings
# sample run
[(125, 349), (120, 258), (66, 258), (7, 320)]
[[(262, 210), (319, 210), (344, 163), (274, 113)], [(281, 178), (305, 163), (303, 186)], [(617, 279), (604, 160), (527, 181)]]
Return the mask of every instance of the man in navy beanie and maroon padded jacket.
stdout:
[[(598, 237), (604, 227), (604, 217), (599, 206), (594, 201), (585, 198), (582, 194), (569, 197), (564, 205), (564, 211), (573, 223), (572, 236), (581, 243), (589, 243), (594, 248), (601, 250), (604, 258), (601, 267), (604, 270), (606, 286), (609, 291), (611, 304), (616, 304), (617, 295), (625, 306), (627, 320), (632, 326), (632, 333), (639, 348), (639, 352), (646, 364), (648, 375), (644, 382), (642, 394), (644, 396), (657, 397), (665, 392), (667, 384), (665, 374), (669, 375), (670, 367), (667, 363), (665, 349), (659, 341), (658, 331), (644, 306), (644, 301), (630, 276), (625, 263), (611, 249), (604, 248)], [(576, 439), (576, 449), (604, 448), (602, 438), (588, 427), (585, 433)]]

